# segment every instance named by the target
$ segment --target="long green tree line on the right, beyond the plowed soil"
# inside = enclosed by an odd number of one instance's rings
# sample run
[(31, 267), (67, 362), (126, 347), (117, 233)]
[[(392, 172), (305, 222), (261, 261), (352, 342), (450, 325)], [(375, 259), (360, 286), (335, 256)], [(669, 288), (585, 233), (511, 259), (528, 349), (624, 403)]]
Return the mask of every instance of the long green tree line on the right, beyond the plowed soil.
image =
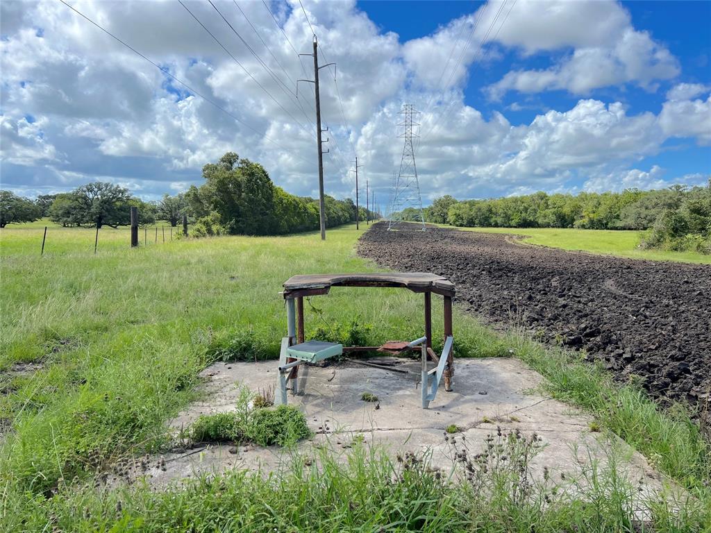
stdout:
[[(403, 212), (407, 217), (407, 210)], [(424, 210), (427, 222), (461, 227), (575, 227), (648, 230), (643, 245), (711, 252), (711, 178), (705, 187), (673, 185), (621, 193), (530, 195), (459, 201), (450, 195)]]

